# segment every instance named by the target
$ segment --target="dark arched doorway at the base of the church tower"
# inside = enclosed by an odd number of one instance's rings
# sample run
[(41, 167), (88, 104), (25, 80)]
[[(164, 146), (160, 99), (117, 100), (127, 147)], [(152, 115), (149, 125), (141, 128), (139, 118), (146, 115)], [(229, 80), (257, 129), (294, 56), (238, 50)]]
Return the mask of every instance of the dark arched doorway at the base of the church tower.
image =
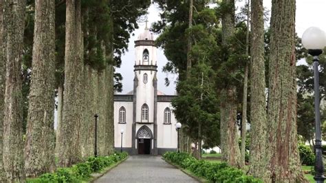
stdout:
[(138, 154), (151, 154), (151, 140), (153, 133), (146, 125), (140, 127), (137, 132), (138, 138)]

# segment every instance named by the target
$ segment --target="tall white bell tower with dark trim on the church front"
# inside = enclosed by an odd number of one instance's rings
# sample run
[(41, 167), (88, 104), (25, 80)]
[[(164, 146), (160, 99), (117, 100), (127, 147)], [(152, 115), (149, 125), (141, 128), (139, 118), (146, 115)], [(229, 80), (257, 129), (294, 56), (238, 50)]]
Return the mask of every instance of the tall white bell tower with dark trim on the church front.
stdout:
[(151, 154), (157, 154), (157, 58), (153, 34), (146, 28), (135, 41), (133, 79), (132, 149), (137, 153), (137, 131), (148, 127), (152, 132)]

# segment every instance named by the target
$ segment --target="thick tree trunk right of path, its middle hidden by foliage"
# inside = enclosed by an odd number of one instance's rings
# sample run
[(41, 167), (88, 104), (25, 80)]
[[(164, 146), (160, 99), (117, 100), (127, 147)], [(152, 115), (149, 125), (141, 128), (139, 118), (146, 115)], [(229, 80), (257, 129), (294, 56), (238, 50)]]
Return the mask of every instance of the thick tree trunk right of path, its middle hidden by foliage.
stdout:
[[(230, 7), (230, 10), (222, 16), (222, 44), (224, 47), (228, 47), (228, 41), (230, 41), (235, 32), (235, 0), (224, 0), (223, 2)], [(220, 125), (222, 160), (228, 162), (231, 166), (241, 165), (241, 154), (237, 142), (238, 128), (235, 122), (237, 117), (236, 98), (237, 91), (235, 86), (226, 84), (225, 89), (221, 89)]]

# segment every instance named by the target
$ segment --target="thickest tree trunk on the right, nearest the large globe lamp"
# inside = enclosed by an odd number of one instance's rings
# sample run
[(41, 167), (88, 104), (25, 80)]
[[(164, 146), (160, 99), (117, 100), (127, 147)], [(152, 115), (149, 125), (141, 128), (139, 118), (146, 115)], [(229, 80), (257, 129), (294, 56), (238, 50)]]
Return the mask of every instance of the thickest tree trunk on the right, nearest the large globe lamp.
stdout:
[(295, 10), (293, 0), (272, 1), (267, 128), (272, 182), (307, 182), (296, 133)]

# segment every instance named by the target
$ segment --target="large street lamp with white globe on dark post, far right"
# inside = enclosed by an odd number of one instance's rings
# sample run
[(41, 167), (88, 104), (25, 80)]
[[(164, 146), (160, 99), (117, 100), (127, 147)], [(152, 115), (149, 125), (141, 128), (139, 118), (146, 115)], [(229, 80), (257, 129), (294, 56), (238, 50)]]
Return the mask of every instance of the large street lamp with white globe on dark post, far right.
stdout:
[(326, 36), (323, 30), (320, 28), (311, 27), (303, 32), (302, 36), (303, 46), (309, 51), (309, 54), (314, 56), (314, 93), (315, 93), (315, 128), (316, 128), (316, 140), (315, 140), (315, 151), (316, 151), (316, 162), (315, 171), (316, 175), (314, 180), (316, 182), (324, 182), (324, 165), (322, 157), (321, 147), (321, 133), (320, 133), (320, 114), (319, 114), (319, 74), (318, 56), (323, 53), (323, 48), (326, 46)]

